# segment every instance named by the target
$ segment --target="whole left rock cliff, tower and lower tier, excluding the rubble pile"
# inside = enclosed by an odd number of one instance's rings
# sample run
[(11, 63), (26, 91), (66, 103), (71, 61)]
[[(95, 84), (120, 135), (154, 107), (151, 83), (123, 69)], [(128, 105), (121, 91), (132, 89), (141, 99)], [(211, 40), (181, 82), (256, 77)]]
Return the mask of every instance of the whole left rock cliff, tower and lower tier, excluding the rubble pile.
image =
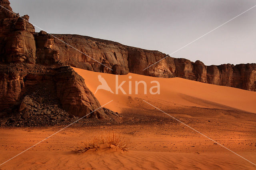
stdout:
[[(0, 5), (12, 11), (8, 0), (0, 0)], [(52, 49), (54, 39), (46, 32), (35, 34), (27, 15), (20, 18), (4, 8), (0, 7), (0, 118), (14, 112), (27, 117), (28, 112), (19, 109), (24, 108), (22, 100), (34, 95), (31, 89), (49, 87), (54, 101), (69, 114), (82, 117), (98, 109), (84, 79), (60, 62), (59, 51)], [(106, 114), (100, 108), (87, 117), (106, 118)]]

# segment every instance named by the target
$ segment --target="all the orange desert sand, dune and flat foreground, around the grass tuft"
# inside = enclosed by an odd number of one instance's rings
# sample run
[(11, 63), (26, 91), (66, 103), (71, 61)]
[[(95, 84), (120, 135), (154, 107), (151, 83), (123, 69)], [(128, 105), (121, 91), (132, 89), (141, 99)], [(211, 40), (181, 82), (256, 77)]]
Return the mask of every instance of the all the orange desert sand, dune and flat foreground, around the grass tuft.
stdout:
[[(115, 75), (74, 68), (94, 93), (100, 74), (115, 93)], [(129, 79), (129, 76), (132, 76)], [(153, 78), (129, 73), (118, 76), (127, 94), (98, 90), (100, 104), (122, 115), (119, 122), (66, 128), (34, 148), (0, 166), (13, 169), (255, 169), (252, 163), (184, 126), (146, 102), (174, 116), (216, 142), (256, 163), (256, 92), (194, 82), (182, 78)], [(128, 94), (128, 81), (132, 93)], [(160, 94), (143, 94), (143, 80), (149, 88), (160, 83)], [(144, 102), (145, 100), (146, 102)], [(64, 126), (37, 128), (0, 128), (0, 163), (40, 142)], [(128, 152), (98, 150), (77, 155), (78, 142), (107, 132), (130, 138)]]

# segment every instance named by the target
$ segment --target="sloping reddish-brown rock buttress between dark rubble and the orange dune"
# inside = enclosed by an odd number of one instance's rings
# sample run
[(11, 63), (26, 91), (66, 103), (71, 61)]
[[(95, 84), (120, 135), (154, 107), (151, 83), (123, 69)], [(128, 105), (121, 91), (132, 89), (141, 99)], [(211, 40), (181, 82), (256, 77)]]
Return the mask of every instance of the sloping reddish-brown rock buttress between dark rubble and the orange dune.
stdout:
[[(99, 108), (100, 103), (84, 84), (84, 79), (72, 68), (69, 66), (58, 68), (54, 79), (56, 93), (64, 110), (78, 117), (92, 112), (87, 117), (106, 118), (103, 109)], [(93, 112), (94, 110), (96, 111)]]

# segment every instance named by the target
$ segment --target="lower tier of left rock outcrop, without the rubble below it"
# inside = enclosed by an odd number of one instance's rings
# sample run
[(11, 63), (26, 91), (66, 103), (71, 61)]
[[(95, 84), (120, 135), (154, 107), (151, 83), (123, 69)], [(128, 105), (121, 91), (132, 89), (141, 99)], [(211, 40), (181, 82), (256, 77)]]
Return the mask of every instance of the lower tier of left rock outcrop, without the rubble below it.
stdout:
[[(17, 112), (22, 112), (26, 104), (31, 103), (24, 96), (42, 88), (44, 90), (37, 95), (37, 102), (42, 101), (42, 97), (47, 100), (55, 98), (56, 104), (74, 116), (85, 116), (100, 107), (84, 84), (84, 79), (70, 66), (18, 63), (2, 64), (0, 69), (0, 108), (3, 112), (11, 112), (5, 110), (13, 107), (18, 108)], [(48, 93), (51, 95), (44, 96)], [(24, 100), (26, 102), (22, 102)], [(106, 118), (106, 114), (100, 108), (87, 117)]]

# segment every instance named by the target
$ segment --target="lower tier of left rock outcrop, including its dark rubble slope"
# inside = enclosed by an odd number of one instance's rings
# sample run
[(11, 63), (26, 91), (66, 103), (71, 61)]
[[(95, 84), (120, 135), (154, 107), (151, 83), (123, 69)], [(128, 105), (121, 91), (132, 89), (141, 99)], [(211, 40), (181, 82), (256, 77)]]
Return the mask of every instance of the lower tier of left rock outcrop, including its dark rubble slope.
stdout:
[[(84, 79), (69, 66), (4, 64), (0, 69), (1, 125), (66, 124), (100, 107)], [(86, 118), (110, 120), (114, 115), (100, 108)]]

